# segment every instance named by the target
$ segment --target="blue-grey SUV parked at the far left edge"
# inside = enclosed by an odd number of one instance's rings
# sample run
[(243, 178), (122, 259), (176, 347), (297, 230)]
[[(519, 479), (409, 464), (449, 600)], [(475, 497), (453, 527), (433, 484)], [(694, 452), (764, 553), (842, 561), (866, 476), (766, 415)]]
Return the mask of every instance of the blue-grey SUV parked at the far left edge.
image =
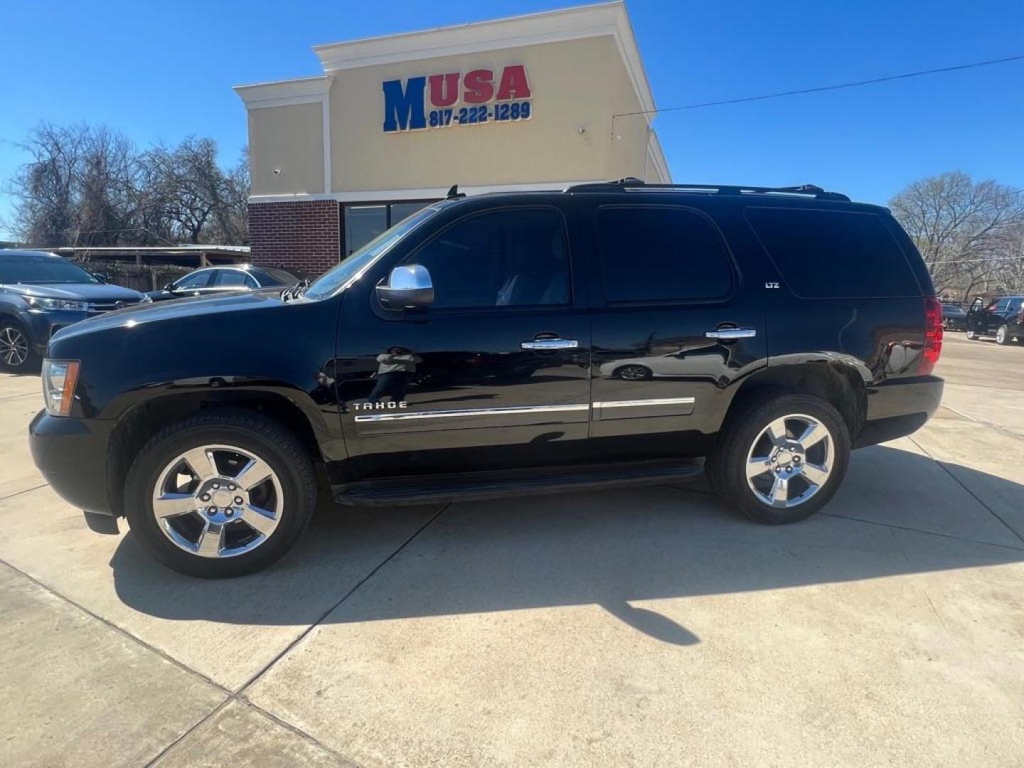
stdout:
[(0, 370), (30, 370), (56, 331), (142, 301), (55, 254), (0, 249)]

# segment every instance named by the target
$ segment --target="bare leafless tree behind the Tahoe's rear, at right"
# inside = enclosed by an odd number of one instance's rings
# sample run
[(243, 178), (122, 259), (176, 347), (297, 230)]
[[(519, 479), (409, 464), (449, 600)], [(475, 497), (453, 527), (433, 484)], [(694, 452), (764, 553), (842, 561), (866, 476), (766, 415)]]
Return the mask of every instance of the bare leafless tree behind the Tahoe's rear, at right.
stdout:
[(1009, 234), (1024, 223), (1024, 196), (993, 180), (950, 172), (914, 181), (889, 203), (913, 240), (936, 289), (967, 301), (1006, 268)]

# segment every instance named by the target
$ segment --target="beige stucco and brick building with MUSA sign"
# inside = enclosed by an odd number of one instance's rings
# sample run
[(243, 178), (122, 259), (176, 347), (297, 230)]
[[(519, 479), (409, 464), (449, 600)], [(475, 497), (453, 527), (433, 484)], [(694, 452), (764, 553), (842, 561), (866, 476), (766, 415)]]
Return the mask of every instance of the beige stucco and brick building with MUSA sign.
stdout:
[(671, 180), (617, 0), (313, 51), (318, 77), (234, 89), (254, 263), (322, 272), (453, 184)]

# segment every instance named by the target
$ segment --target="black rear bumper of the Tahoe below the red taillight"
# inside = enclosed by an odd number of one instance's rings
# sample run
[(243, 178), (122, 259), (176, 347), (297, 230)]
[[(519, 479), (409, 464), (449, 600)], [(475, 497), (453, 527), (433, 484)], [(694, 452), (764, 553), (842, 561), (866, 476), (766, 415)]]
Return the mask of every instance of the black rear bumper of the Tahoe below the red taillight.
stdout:
[(915, 376), (868, 386), (867, 417), (854, 447), (918, 431), (938, 410), (944, 384), (938, 376)]

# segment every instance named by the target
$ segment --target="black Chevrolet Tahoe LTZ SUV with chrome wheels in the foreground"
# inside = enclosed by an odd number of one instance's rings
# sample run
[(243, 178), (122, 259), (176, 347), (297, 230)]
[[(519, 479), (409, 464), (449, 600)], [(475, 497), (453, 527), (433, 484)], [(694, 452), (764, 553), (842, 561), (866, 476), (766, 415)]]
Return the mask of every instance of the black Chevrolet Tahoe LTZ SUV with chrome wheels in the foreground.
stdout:
[(388, 507), (707, 468), (784, 523), (828, 502), (851, 449), (925, 423), (941, 345), (884, 208), (813, 186), (453, 188), (308, 288), (58, 333), (31, 443), (91, 525), (123, 515), (203, 577), (281, 557), (318, 485)]

